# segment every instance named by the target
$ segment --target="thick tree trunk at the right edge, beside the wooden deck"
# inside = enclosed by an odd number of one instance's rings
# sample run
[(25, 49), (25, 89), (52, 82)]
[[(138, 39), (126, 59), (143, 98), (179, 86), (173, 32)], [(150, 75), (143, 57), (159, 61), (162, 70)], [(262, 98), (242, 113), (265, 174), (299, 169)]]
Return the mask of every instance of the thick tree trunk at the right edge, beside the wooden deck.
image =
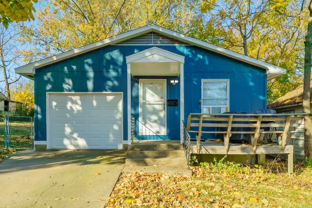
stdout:
[[(308, 29), (305, 36), (305, 71), (303, 80), (303, 112), (309, 113), (310, 109), (310, 94), (311, 94), (311, 50), (312, 50), (312, 0), (308, 5), (309, 7), (309, 18), (308, 18)], [(312, 157), (312, 119), (311, 116), (305, 116), (305, 157)]]

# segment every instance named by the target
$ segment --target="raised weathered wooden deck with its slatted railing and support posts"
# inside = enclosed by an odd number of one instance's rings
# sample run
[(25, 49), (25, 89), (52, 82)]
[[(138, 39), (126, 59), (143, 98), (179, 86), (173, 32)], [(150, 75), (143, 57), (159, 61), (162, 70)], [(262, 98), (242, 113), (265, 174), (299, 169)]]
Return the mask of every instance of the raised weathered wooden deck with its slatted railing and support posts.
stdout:
[[(186, 131), (196, 134), (190, 141), (190, 154), (256, 154), (265, 162), (266, 154), (288, 154), (288, 174), (293, 172), (291, 134), (299, 120), (309, 114), (189, 114)], [(223, 140), (201, 141), (203, 134), (219, 134)], [(233, 134), (248, 134), (247, 144), (230, 143)], [(263, 141), (276, 138), (276, 143)], [(189, 135), (188, 135), (189, 137)], [(246, 142), (246, 141), (245, 141)]]

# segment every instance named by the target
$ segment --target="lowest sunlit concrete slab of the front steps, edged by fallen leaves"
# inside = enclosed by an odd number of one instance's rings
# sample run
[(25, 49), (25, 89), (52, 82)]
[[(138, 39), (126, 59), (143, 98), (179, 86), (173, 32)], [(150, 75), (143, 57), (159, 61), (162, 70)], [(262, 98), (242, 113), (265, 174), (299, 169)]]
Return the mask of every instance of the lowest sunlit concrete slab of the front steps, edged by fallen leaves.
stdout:
[(134, 172), (134, 171), (143, 171), (146, 173), (169, 173), (172, 175), (180, 175), (180, 176), (192, 176), (192, 171), (188, 170), (187, 166), (184, 164), (183, 166), (164, 166), (160, 165), (158, 167), (154, 166), (129, 166), (126, 165), (122, 172)]

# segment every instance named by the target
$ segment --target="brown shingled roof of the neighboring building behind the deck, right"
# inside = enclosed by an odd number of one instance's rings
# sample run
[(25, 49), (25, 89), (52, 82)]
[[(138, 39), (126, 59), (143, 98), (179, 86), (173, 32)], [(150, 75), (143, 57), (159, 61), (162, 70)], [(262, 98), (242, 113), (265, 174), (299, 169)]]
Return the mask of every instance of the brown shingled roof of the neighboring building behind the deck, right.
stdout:
[[(310, 80), (310, 86), (312, 91), (312, 80)], [(302, 105), (303, 100), (303, 85), (298, 86), (296, 89), (286, 93), (280, 98), (274, 100), (272, 103), (267, 105), (268, 109), (289, 107), (293, 105)], [(310, 102), (312, 101), (310, 97)]]

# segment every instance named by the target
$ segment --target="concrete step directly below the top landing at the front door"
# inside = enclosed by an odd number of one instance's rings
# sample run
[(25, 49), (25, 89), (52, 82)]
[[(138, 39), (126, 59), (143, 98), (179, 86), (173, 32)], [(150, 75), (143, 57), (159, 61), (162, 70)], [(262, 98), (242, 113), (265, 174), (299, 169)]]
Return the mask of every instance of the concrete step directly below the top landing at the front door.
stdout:
[(128, 150), (127, 158), (164, 158), (164, 157), (185, 157), (184, 150), (174, 150), (174, 151), (135, 151)]

